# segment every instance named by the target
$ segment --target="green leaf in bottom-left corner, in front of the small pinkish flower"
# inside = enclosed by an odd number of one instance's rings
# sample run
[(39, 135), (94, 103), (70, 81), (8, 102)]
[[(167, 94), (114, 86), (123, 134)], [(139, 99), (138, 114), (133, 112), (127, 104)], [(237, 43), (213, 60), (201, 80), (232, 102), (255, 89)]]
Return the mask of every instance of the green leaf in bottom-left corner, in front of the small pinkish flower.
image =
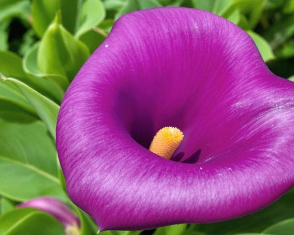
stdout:
[(15, 209), (0, 217), (2, 235), (65, 235), (62, 225), (51, 215), (33, 208)]

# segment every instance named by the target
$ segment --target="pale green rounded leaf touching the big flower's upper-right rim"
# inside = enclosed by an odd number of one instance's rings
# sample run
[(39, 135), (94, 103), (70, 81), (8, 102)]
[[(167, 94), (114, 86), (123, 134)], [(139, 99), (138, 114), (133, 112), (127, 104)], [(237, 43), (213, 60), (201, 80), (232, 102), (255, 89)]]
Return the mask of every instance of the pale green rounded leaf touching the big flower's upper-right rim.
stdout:
[(250, 35), (250, 37), (255, 42), (256, 46), (258, 47), (258, 50), (265, 62), (273, 60), (275, 58), (272, 49), (270, 48), (270, 45), (268, 42), (262, 38), (259, 34), (254, 33), (253, 31), (247, 31), (247, 33)]

